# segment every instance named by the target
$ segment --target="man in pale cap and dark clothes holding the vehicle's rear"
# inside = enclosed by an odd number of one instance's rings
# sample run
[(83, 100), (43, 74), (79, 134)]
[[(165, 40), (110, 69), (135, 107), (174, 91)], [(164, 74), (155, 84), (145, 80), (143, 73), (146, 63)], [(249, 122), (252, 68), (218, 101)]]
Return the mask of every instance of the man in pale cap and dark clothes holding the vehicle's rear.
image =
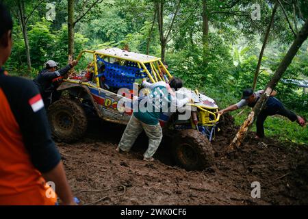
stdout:
[(44, 100), (44, 105), (46, 108), (49, 107), (51, 102), (55, 100), (55, 82), (59, 79), (62, 79), (63, 75), (68, 73), (70, 68), (73, 68), (77, 65), (77, 61), (73, 60), (64, 68), (57, 70), (57, 63), (53, 60), (49, 60), (46, 63), (46, 67), (40, 71), (36, 79), (34, 79), (34, 83), (38, 86), (40, 93), (42, 94), (42, 98)]

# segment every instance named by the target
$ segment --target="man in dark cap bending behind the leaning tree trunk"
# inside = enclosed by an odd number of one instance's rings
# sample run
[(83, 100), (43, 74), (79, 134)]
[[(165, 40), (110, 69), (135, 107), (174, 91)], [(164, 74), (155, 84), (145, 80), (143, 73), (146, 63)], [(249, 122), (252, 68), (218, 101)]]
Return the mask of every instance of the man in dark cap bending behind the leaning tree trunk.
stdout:
[[(263, 90), (253, 92), (253, 89), (248, 88), (243, 91), (242, 100), (240, 102), (230, 105), (224, 110), (220, 110), (218, 113), (222, 115), (225, 112), (238, 110), (246, 105), (248, 105), (249, 107), (254, 107), (259, 98), (261, 97), (261, 95), (263, 94), (263, 92), (264, 92)], [(274, 97), (276, 96), (276, 94), (277, 92), (273, 90), (272, 93), (270, 94), (270, 98), (266, 102), (266, 106), (264, 107), (263, 110), (261, 110), (259, 116), (257, 117), (257, 122), (256, 122), (257, 136), (255, 136), (256, 139), (264, 137), (264, 121), (268, 116), (273, 116), (278, 114), (289, 118), (292, 122), (297, 121), (297, 123), (300, 126), (305, 125), (305, 120), (303, 118), (297, 116), (296, 114), (294, 114), (294, 112), (287, 110), (287, 108), (284, 107), (283, 103), (281, 103), (281, 101), (279, 101)]]

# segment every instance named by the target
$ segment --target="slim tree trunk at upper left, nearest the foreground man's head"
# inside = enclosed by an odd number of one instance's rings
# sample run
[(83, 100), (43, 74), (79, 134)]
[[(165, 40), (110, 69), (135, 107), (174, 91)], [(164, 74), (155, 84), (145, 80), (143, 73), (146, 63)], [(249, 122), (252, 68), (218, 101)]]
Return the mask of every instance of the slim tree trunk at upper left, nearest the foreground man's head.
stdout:
[(29, 39), (27, 33), (27, 23), (25, 23), (25, 3), (24, 1), (18, 1), (18, 16), (19, 22), (21, 24), (21, 31), (23, 32), (23, 40), (25, 42), (25, 52), (27, 55), (27, 66), (29, 72), (31, 71), (31, 57), (30, 57), (30, 47)]

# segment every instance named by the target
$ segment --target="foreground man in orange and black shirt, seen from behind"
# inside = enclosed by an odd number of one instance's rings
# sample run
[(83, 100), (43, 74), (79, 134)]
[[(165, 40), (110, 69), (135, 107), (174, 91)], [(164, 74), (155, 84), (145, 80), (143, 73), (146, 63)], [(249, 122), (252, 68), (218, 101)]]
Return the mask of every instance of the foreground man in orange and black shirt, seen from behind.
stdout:
[(12, 18), (1, 3), (0, 12), (0, 205), (55, 205), (55, 193), (75, 205), (38, 88), (2, 68), (12, 49)]

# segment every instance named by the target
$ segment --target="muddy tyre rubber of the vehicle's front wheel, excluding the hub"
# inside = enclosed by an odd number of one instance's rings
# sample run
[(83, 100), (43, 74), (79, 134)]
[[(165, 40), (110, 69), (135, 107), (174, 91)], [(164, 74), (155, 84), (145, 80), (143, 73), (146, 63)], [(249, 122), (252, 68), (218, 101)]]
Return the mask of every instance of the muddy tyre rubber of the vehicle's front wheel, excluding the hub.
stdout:
[[(177, 156), (177, 147), (181, 143), (188, 143), (193, 146), (194, 151), (198, 153), (198, 163), (196, 165), (183, 164)], [(175, 138), (172, 142), (172, 156), (177, 165), (185, 168), (186, 170), (203, 170), (214, 166), (214, 150), (211, 142), (194, 129), (186, 129), (177, 131)]]

